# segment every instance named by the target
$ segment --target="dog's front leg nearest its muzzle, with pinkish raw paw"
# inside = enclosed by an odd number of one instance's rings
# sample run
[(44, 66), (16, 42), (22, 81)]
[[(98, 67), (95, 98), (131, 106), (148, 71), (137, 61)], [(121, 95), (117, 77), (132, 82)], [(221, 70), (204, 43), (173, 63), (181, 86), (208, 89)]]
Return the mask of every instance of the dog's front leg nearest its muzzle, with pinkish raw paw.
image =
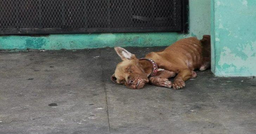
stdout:
[(168, 78), (174, 77), (176, 74), (168, 70), (159, 71), (155, 77), (150, 77), (149, 81), (151, 84), (160, 87), (172, 87), (172, 82)]

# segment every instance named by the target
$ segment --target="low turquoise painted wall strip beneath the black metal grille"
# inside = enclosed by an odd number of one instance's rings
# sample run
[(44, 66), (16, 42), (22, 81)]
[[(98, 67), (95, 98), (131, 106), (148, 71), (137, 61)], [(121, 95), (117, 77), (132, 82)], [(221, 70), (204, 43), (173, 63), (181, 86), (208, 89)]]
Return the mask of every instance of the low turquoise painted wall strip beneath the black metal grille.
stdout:
[(51, 34), (0, 36), (0, 49), (84, 49), (114, 46), (167, 46), (178, 33)]

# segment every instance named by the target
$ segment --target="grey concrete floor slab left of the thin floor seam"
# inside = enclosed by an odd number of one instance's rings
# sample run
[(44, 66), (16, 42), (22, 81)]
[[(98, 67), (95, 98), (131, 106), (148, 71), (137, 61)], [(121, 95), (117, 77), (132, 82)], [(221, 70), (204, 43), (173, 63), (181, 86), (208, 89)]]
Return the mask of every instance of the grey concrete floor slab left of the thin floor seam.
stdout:
[(1, 53), (0, 134), (109, 133), (99, 52)]

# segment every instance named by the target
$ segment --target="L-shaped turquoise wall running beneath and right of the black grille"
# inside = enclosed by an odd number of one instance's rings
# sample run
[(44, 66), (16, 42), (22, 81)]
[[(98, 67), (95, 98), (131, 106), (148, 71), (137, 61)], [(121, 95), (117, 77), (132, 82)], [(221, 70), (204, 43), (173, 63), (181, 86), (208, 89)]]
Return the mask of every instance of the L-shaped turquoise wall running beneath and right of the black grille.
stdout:
[(168, 46), (180, 38), (210, 34), (210, 0), (190, 0), (190, 33), (50, 34), (0, 36), (0, 49), (84, 49), (114, 46)]

